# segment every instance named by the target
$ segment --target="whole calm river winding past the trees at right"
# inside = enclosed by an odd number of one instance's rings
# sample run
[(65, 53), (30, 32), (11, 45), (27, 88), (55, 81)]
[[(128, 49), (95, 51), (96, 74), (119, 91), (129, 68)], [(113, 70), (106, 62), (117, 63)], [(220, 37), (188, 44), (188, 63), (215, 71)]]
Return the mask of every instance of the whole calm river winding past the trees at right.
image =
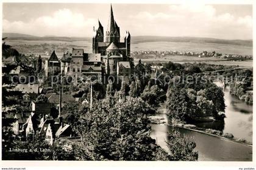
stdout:
[[(200, 127), (221, 129), (224, 133), (232, 133), (235, 138), (244, 138), (252, 141), (252, 105), (247, 105), (229, 93), (229, 87), (224, 89), (226, 104), (226, 116), (224, 124), (204, 123), (197, 124)], [(165, 118), (166, 108), (162, 104), (157, 116)], [(172, 127), (164, 124), (151, 124), (151, 137), (157, 140), (163, 149), (168, 151), (166, 146), (166, 135)], [(252, 161), (252, 147), (234, 141), (225, 140), (204, 133), (177, 128), (180, 133), (191, 136), (196, 142), (195, 150), (199, 152), (199, 161)]]

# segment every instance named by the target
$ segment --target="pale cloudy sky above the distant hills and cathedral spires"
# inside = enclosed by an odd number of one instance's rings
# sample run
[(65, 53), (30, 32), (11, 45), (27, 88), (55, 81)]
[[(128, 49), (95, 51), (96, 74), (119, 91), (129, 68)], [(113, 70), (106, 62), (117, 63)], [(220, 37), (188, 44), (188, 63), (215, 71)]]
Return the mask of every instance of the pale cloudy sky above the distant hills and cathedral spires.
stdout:
[[(252, 5), (112, 4), (121, 36), (252, 39)], [(4, 3), (2, 31), (37, 36), (92, 37), (107, 28), (110, 4)]]

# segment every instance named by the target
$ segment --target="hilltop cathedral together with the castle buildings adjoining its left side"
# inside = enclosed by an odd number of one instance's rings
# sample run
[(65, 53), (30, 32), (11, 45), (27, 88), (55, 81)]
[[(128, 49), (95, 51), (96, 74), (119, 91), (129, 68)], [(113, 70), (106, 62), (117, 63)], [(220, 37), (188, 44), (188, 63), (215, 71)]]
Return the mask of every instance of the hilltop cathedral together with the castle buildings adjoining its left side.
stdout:
[(130, 76), (133, 71), (133, 59), (130, 57), (130, 33), (126, 31), (124, 41), (120, 41), (120, 29), (113, 15), (112, 5), (107, 30), (99, 21), (98, 29), (93, 27), (93, 53), (84, 49), (73, 49), (71, 53), (59, 58), (52, 52), (46, 60), (46, 76), (59, 74), (65, 76)]

